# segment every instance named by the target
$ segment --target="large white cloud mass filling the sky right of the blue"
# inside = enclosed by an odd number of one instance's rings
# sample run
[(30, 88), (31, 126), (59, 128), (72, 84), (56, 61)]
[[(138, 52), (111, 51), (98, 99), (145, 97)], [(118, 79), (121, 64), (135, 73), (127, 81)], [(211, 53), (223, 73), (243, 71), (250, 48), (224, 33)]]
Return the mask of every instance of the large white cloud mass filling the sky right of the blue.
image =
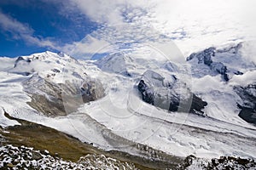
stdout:
[(90, 20), (103, 24), (91, 36), (112, 44), (169, 40), (189, 55), (209, 46), (241, 42), (255, 36), (253, 0), (71, 2), (73, 8)]

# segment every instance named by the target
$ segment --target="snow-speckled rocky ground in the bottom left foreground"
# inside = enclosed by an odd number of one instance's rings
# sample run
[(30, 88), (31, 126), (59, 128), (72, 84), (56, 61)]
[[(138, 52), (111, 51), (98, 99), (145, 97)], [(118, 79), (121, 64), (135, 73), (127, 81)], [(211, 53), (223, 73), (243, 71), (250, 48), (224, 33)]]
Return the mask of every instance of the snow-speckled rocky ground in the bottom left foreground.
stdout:
[(51, 156), (47, 150), (39, 151), (10, 144), (0, 147), (0, 160), (0, 167), (6, 169), (137, 169), (133, 164), (104, 155), (88, 154), (73, 162)]

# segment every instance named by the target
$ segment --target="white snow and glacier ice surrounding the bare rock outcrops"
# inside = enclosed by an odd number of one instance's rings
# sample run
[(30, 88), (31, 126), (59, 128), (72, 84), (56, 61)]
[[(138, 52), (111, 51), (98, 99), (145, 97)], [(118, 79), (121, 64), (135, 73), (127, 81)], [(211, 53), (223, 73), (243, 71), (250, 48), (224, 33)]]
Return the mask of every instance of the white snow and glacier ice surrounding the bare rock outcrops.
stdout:
[[(200, 61), (204, 54), (196, 55), (199, 57), (183, 65), (161, 60), (152, 67), (147, 65), (148, 58), (145, 60), (132, 54), (113, 54), (97, 61), (76, 60), (66, 54), (51, 52), (25, 56), (18, 62), (0, 58), (4, 63), (0, 67), (0, 126), (19, 124), (5, 117), (3, 112), (6, 111), (11, 116), (69, 133), (104, 150), (122, 150), (141, 156), (131, 145), (146, 144), (153, 150), (173, 156), (256, 159), (256, 127), (238, 116), (237, 104), (243, 100), (234, 91), (234, 86), (245, 87), (256, 82), (256, 67), (252, 61), (242, 58), (239, 48), (216, 50), (212, 63), (222, 63), (217, 66)], [(224, 73), (217, 68), (224, 66), (227, 67)], [(177, 72), (177, 68), (183, 71)], [(207, 102), (203, 115), (166, 111), (144, 102), (137, 90), (143, 74), (149, 79), (164, 80), (164, 85), (155, 82), (154, 89), (174, 83), (172, 76), (177, 77), (187, 85), (186, 89)], [(230, 79), (228, 82), (224, 80), (225, 74)], [(34, 83), (43, 79), (56, 87), (67, 82), (70, 87), (79, 87), (90, 78), (102, 83), (105, 95), (79, 105), (67, 116), (45, 116), (28, 105), (32, 102), (32, 94), (54, 101), (48, 95), (51, 90), (46, 89), (42, 94), (36, 90), (37, 86), (27, 89), (24, 85), (36, 77)], [(184, 93), (184, 88), (178, 89), (180, 94)], [(166, 95), (165, 91), (158, 93)], [(73, 97), (83, 100), (81, 95)], [(65, 111), (71, 111), (67, 105), (69, 99), (61, 101)]]

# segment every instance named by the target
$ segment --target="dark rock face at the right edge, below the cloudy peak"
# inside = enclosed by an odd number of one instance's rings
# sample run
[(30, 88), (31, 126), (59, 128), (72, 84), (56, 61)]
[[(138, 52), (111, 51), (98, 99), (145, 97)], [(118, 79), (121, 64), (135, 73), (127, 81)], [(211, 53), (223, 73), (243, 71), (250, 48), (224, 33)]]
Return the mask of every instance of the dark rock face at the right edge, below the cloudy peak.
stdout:
[(243, 101), (237, 105), (241, 109), (238, 116), (246, 122), (256, 124), (256, 84), (247, 87), (236, 86), (234, 89)]

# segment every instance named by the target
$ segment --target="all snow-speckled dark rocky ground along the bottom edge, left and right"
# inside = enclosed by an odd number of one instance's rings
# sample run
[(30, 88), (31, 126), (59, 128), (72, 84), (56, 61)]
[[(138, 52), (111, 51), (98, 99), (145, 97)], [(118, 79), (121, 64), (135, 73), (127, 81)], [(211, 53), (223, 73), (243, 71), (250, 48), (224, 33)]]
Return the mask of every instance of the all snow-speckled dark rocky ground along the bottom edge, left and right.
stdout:
[[(104, 155), (81, 156), (79, 161), (65, 161), (51, 156), (48, 150), (34, 150), (26, 146), (15, 147), (11, 144), (0, 147), (0, 167), (3, 169), (139, 169), (132, 163), (121, 162)], [(256, 162), (231, 156), (206, 160), (188, 156), (183, 164), (175, 169), (255, 169)], [(166, 168), (168, 169), (168, 168)]]

